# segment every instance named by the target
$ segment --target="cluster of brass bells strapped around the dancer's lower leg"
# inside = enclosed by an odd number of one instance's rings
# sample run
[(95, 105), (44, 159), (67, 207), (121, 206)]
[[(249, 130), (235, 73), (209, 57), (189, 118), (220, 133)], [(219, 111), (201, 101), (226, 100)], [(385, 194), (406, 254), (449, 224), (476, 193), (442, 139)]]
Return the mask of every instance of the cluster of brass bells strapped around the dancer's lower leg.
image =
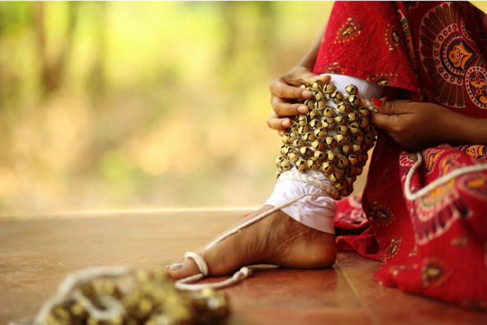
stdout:
[(301, 87), (310, 90), (313, 97), (303, 101), (308, 113), (295, 116), (282, 137), (277, 177), (293, 167), (303, 173), (321, 171), (334, 184), (336, 199), (349, 196), (367, 162), (367, 151), (376, 142), (370, 110), (361, 105), (356, 85), (345, 87), (346, 94), (333, 83), (315, 81)]

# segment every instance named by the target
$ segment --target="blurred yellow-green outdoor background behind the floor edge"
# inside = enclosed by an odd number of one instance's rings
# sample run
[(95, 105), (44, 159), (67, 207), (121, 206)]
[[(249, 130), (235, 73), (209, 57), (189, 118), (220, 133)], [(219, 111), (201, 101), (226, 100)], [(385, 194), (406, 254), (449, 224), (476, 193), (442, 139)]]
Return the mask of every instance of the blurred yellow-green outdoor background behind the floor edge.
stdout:
[(261, 205), (332, 2), (0, 3), (0, 213)]

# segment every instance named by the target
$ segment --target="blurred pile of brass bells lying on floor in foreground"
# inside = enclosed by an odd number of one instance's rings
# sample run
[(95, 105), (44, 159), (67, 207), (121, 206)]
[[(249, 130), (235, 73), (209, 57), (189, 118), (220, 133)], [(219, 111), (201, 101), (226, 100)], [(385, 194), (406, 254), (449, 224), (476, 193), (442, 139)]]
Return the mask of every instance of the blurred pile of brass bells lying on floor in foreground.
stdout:
[[(224, 293), (213, 289), (179, 291), (164, 271), (139, 271), (127, 279), (101, 278), (78, 286), (83, 299), (70, 299), (54, 306), (46, 325), (157, 325), (157, 324), (222, 324), (228, 316)], [(122, 304), (123, 313), (110, 320), (90, 315), (86, 298), (102, 308), (103, 300)]]

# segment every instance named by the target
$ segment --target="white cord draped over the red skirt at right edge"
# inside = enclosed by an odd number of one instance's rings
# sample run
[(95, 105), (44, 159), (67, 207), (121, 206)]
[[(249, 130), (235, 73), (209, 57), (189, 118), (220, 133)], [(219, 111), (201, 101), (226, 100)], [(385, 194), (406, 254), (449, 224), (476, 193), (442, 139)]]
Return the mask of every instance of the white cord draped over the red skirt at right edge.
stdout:
[(407, 200), (413, 201), (413, 200), (418, 200), (418, 198), (421, 198), (422, 196), (425, 196), (426, 193), (429, 193), (433, 191), (433, 189), (439, 187), (440, 185), (443, 185), (444, 183), (448, 182), (449, 180), (452, 180), (455, 177), (458, 177), (462, 174), (467, 174), (467, 173), (472, 173), (475, 171), (483, 171), (487, 170), (487, 164), (482, 164), (482, 165), (472, 165), (472, 166), (466, 166), (462, 168), (455, 169), (454, 171), (451, 171), (450, 173), (437, 178), (433, 180), (433, 182), (429, 183), (422, 189), (419, 189), (416, 192), (411, 192), (411, 179), (413, 178), (414, 173), (418, 170), (418, 168), (421, 166), (423, 162), (423, 158), (421, 156), (420, 151), (416, 152), (416, 157), (417, 160), (414, 163), (414, 165), (409, 169), (406, 175), (406, 181), (404, 182), (404, 195), (406, 196)]

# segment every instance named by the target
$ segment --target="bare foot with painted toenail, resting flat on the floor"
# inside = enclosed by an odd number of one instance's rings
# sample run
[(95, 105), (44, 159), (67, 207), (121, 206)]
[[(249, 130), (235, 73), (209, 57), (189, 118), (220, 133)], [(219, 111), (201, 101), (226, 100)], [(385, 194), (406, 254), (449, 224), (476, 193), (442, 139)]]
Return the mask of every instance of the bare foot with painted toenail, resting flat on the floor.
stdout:
[[(272, 209), (264, 206), (241, 222)], [(240, 222), (239, 222), (240, 223)], [(210, 249), (199, 249), (208, 264), (209, 275), (229, 275), (241, 266), (273, 264), (296, 269), (318, 269), (332, 266), (336, 259), (334, 235), (305, 226), (277, 211), (230, 235)], [(175, 278), (199, 273), (195, 262), (180, 259), (169, 267)]]

